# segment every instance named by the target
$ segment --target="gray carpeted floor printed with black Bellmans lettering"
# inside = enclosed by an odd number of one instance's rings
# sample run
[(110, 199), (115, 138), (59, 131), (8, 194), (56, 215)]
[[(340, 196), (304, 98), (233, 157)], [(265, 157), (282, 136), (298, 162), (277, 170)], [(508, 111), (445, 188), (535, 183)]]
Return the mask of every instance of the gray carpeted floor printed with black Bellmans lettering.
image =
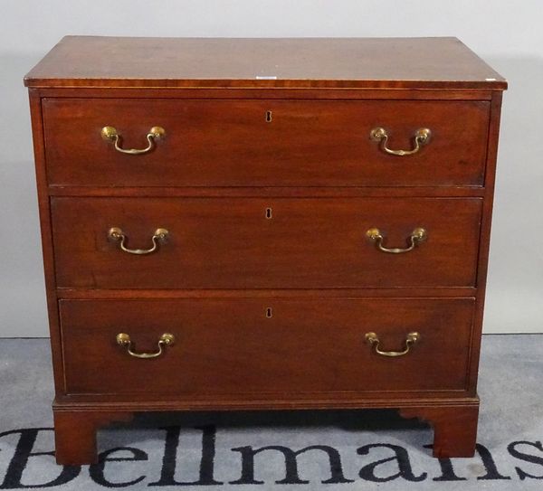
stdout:
[[(52, 431), (47, 430), (52, 427), (48, 341), (0, 340), (0, 489), (53, 481), (49, 489), (100, 489), (116, 484), (121, 489), (540, 491), (543, 335), (484, 336), (479, 386), (482, 447), (481, 455), (472, 459), (440, 465), (424, 448), (432, 441), (431, 430), (387, 411), (186, 413), (146, 415), (137, 420), (136, 427), (100, 431), (100, 450), (130, 449), (111, 453), (110, 458), (118, 460), (102, 466), (62, 471), (51, 455), (30, 455), (53, 448)], [(176, 454), (171, 455), (177, 434)], [(283, 449), (262, 451), (250, 466), (249, 448), (267, 446)], [(282, 452), (310, 446), (321, 447), (301, 453), (297, 468), (291, 465), (286, 477)], [(337, 457), (334, 466), (330, 454)], [(379, 460), (382, 463), (376, 464)], [(198, 480), (199, 486), (183, 484)], [(262, 484), (248, 484), (256, 480)], [(285, 484), (276, 484), (281, 480)], [(322, 484), (327, 480), (329, 484)], [(138, 482), (127, 484), (130, 481)]]

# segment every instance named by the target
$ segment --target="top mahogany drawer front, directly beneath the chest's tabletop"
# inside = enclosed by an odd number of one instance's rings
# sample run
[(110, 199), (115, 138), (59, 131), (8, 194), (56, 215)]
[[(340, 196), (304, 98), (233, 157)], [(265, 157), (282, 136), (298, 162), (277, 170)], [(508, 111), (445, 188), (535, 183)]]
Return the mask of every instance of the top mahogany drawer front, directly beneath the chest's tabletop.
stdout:
[[(463, 100), (43, 99), (49, 183), (68, 186), (477, 186), (489, 114)], [(119, 152), (107, 126), (119, 148), (150, 150)], [(151, 127), (165, 136), (148, 143)], [(420, 128), (416, 153), (386, 152), (414, 150)]]

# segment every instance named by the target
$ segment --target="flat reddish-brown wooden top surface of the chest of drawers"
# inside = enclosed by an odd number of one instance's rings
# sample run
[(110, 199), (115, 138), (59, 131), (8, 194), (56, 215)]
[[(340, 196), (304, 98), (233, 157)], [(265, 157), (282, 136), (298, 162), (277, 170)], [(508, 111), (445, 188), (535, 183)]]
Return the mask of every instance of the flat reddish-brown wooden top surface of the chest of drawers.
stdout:
[(66, 36), (28, 87), (504, 90), (456, 38)]

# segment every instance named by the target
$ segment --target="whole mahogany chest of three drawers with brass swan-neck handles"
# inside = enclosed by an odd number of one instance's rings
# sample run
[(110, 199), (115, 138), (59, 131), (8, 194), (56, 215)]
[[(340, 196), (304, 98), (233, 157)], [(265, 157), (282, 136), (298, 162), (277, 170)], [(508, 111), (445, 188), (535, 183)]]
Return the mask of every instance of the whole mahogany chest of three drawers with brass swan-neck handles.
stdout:
[(461, 42), (67, 37), (25, 83), (60, 463), (234, 409), (395, 408), (472, 455), (506, 82)]

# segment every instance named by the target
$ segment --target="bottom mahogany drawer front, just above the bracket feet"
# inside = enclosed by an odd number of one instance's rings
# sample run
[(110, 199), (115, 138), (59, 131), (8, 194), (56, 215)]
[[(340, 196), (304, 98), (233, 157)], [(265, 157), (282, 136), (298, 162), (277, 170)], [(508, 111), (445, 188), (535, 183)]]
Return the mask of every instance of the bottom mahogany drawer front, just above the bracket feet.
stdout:
[[(70, 393), (462, 391), (473, 300), (313, 298), (62, 300)], [(266, 310), (272, 309), (271, 317)], [(374, 332), (382, 351), (366, 341)], [(175, 343), (153, 359), (164, 334)], [(114, 373), (114, 376), (103, 376)]]

